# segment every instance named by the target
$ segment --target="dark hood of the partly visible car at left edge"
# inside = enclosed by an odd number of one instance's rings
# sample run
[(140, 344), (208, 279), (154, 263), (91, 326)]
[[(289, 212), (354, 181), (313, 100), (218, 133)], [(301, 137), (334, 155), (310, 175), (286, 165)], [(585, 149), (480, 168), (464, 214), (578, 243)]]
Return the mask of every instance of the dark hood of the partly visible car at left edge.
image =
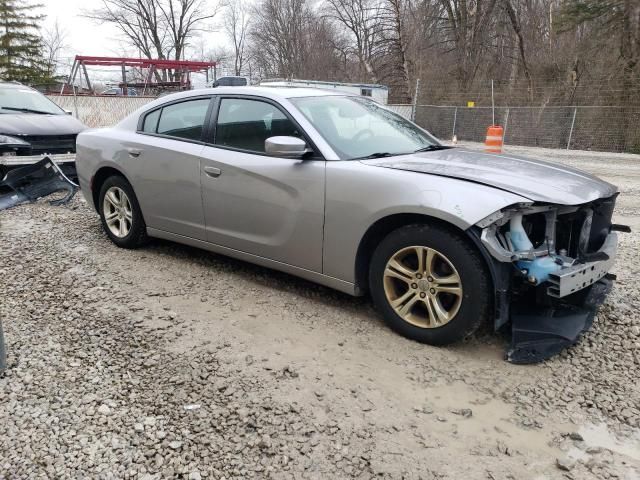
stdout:
[(0, 114), (0, 134), (4, 135), (71, 135), (86, 128), (71, 115)]

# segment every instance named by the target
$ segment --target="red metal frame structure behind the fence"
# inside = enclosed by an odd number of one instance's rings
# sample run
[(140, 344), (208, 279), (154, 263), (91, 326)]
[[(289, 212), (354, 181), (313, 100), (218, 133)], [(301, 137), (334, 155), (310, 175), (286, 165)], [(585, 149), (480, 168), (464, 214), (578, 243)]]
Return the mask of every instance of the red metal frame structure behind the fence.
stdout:
[[(129, 88), (143, 89), (143, 94), (146, 93), (147, 90), (149, 90), (149, 93), (152, 91), (157, 92), (159, 90), (190, 90), (192, 73), (205, 73), (207, 75), (208, 82), (210, 70), (213, 69), (215, 78), (216, 69), (215, 62), (76, 55), (73, 67), (71, 68), (71, 75), (69, 75), (69, 79), (67, 81), (67, 86), (73, 87), (78, 75), (80, 75), (81, 86), (84, 77), (86, 87), (90, 91), (93, 91), (91, 81), (89, 80), (89, 74), (87, 73), (87, 65), (120, 67), (122, 72), (122, 82), (119, 86), (122, 89), (123, 95), (128, 95)], [(137, 80), (128, 81), (127, 67), (138, 70)]]

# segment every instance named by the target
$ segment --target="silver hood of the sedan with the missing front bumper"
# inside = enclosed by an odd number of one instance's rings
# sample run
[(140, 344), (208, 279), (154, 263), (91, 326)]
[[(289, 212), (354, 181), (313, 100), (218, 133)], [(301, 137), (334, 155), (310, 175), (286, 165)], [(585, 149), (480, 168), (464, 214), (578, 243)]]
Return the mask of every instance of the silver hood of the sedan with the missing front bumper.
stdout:
[(534, 202), (579, 205), (610, 197), (618, 191), (614, 185), (574, 168), (531, 158), (459, 148), (362, 162), (481, 183)]

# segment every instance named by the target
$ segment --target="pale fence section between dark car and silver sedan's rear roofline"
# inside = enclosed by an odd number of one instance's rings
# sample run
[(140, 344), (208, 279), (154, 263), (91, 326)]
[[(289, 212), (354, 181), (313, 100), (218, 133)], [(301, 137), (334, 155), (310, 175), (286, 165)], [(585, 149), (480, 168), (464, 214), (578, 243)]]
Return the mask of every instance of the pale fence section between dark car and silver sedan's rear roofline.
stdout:
[(155, 97), (51, 95), (49, 98), (91, 128), (115, 125)]

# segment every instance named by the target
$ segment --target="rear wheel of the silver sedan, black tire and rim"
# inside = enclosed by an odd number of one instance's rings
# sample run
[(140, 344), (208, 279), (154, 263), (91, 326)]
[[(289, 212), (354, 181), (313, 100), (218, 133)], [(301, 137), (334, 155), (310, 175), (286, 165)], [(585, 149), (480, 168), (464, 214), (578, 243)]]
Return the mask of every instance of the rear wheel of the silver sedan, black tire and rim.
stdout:
[[(107, 195), (109, 199), (105, 199)], [(118, 247), (138, 248), (148, 241), (138, 199), (124, 177), (113, 175), (105, 180), (98, 195), (98, 211), (102, 228)]]

